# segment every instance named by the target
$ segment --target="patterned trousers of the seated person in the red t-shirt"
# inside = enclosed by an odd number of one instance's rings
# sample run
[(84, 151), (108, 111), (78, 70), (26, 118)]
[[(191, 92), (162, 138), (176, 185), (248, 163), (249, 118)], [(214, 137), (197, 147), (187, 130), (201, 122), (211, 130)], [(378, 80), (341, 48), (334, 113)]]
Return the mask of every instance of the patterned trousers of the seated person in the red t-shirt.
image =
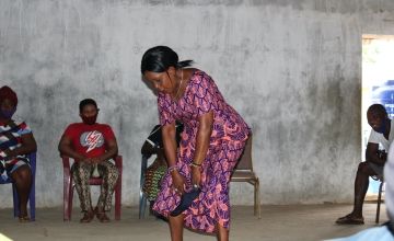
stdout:
[[(72, 179), (76, 182), (76, 188), (81, 202), (82, 211), (88, 211), (92, 207), (92, 198), (90, 192), (89, 180), (94, 171), (94, 164), (86, 162), (76, 162), (71, 168)], [(118, 169), (111, 162), (104, 161), (97, 164), (100, 176), (103, 177), (97, 208), (104, 207), (106, 211), (112, 207), (112, 194), (119, 176)]]

